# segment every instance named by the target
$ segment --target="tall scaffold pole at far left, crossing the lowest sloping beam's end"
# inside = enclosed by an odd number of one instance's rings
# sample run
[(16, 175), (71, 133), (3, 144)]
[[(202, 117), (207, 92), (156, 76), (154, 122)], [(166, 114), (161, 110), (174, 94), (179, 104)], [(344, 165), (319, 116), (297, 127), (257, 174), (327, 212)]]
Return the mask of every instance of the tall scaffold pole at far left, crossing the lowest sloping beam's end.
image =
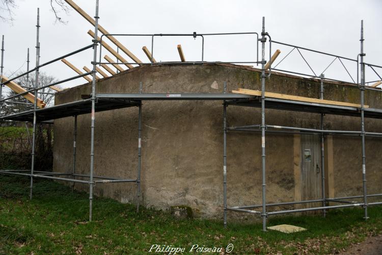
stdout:
[[(37, 39), (36, 39), (36, 67), (40, 65), (40, 8), (37, 8)], [(36, 110), (37, 110), (37, 87), (39, 84), (39, 68), (36, 69), (36, 78), (35, 78), (35, 103), (33, 106), (33, 134), (32, 134), (32, 166), (31, 166), (31, 174), (35, 170), (35, 152), (36, 152)], [(30, 199), (32, 199), (33, 192), (33, 176), (31, 176), (31, 186), (30, 186)]]

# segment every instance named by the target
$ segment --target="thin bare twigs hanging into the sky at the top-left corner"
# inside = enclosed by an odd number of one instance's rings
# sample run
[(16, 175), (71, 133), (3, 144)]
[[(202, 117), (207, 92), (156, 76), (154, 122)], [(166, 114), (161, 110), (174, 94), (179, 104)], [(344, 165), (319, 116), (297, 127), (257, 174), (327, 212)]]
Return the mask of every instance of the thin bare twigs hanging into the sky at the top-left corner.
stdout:
[[(60, 16), (61, 12), (65, 14), (69, 13), (69, 8), (65, 4), (64, 0), (49, 0), (50, 1), (50, 10), (54, 13), (56, 17), (56, 22), (66, 24), (67, 21), (63, 20)], [(14, 20), (14, 9), (17, 8), (16, 0), (0, 0), (0, 20), (5, 22), (13, 22)]]

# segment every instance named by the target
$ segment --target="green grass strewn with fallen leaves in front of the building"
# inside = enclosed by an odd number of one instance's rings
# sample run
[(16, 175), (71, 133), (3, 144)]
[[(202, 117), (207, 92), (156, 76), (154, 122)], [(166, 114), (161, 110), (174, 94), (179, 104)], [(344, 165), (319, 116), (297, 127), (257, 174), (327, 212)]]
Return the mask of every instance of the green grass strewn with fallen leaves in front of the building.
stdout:
[[(200, 247), (227, 247), (231, 254), (335, 253), (382, 230), (382, 208), (333, 210), (319, 215), (271, 217), (268, 225), (293, 224), (308, 231), (263, 233), (260, 224), (176, 220), (165, 212), (143, 209), (106, 198), (94, 199), (94, 219), (88, 223), (88, 195), (48, 180), (35, 180), (34, 198), (28, 199), (29, 180), (0, 175), (0, 253), (127, 253), (146, 254), (151, 245), (172, 245), (188, 251)], [(185, 252), (188, 253), (188, 252)], [(179, 253), (178, 253), (179, 254)], [(215, 253), (216, 254), (216, 253)], [(224, 249), (221, 252), (224, 253)]]

